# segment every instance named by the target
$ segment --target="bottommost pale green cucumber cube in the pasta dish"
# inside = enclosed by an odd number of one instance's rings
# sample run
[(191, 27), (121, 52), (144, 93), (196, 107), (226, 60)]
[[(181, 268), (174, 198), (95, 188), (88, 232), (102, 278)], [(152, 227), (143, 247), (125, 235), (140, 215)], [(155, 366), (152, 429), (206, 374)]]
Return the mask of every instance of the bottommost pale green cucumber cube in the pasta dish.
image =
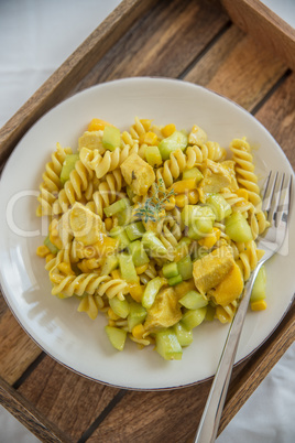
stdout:
[(165, 360), (182, 359), (183, 349), (173, 328), (166, 328), (155, 334), (155, 350)]

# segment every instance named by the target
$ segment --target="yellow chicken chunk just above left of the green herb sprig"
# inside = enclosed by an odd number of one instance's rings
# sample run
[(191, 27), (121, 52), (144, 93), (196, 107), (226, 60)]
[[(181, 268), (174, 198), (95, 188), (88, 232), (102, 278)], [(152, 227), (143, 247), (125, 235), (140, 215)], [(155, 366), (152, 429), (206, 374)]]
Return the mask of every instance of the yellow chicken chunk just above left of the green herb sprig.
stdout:
[(155, 181), (153, 168), (138, 154), (131, 154), (121, 164), (123, 177), (136, 195), (145, 195)]

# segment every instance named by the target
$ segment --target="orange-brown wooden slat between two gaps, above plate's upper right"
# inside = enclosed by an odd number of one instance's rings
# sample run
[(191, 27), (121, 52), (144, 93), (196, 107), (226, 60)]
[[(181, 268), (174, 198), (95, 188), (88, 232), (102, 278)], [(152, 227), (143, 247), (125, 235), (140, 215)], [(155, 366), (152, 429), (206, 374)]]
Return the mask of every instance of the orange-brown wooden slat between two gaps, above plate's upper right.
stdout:
[(185, 79), (222, 94), (251, 111), (286, 69), (278, 56), (232, 25)]

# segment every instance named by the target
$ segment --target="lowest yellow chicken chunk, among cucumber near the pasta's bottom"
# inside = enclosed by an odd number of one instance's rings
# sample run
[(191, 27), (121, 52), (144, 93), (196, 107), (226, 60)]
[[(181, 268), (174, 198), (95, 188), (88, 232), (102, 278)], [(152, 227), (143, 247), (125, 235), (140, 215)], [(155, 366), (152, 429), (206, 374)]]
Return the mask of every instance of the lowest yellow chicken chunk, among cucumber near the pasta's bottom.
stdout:
[(159, 292), (144, 323), (145, 332), (173, 326), (182, 318), (181, 305), (173, 288)]

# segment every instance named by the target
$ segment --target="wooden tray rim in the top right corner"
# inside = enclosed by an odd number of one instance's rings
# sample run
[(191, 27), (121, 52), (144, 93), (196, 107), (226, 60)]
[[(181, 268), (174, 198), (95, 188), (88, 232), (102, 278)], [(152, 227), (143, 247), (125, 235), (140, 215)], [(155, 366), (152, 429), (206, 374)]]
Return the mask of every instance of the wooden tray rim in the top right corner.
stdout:
[(259, 0), (220, 0), (239, 28), (295, 69), (295, 30)]

